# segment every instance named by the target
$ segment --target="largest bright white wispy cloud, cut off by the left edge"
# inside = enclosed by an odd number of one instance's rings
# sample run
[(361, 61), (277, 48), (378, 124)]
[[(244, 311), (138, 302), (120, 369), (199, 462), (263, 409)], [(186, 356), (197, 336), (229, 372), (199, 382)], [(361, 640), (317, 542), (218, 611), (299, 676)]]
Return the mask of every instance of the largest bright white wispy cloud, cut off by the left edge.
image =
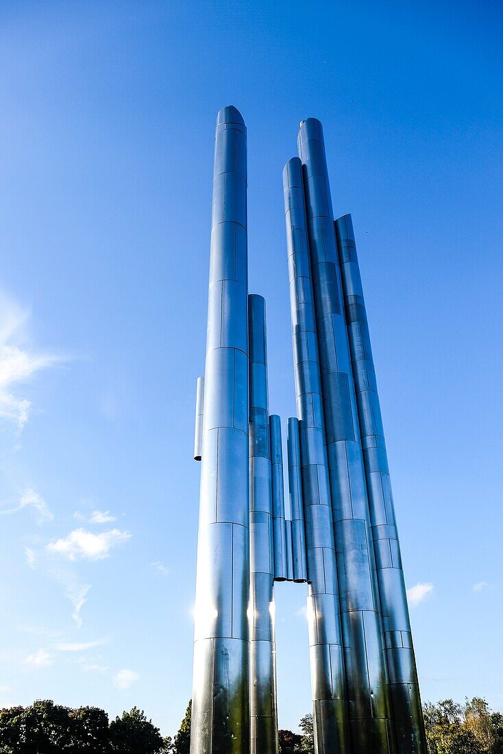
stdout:
[(10, 421), (18, 433), (28, 420), (32, 404), (14, 392), (14, 387), (62, 361), (56, 354), (36, 353), (26, 346), (29, 315), (28, 309), (0, 294), (0, 419)]

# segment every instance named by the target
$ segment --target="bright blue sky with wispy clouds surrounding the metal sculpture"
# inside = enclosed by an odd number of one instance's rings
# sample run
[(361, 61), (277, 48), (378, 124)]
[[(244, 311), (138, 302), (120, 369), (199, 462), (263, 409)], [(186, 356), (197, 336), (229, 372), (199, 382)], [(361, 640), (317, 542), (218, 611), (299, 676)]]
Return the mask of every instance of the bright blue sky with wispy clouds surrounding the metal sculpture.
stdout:
[[(357, 233), (422, 696), (503, 709), (501, 6), (308, 5), (2, 3), (0, 704), (137, 704), (164, 733), (184, 713), (232, 103), (271, 410), (295, 412), (281, 170), (314, 116)], [(278, 585), (281, 727), (311, 706), (304, 604)]]

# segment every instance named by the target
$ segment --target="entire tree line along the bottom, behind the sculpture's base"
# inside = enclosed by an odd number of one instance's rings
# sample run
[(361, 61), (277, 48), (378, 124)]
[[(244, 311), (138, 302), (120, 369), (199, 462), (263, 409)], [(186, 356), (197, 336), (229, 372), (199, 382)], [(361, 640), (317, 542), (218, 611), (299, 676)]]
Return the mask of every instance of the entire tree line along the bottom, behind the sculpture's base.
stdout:
[[(37, 700), (0, 710), (0, 754), (190, 754), (191, 712), (189, 701), (172, 739), (163, 738), (136, 706), (109, 721), (98, 707), (73, 710)], [(503, 714), (492, 712), (485, 699), (427, 702), (423, 712), (430, 754), (503, 754)], [(299, 728), (301, 734), (279, 731), (279, 754), (314, 754), (311, 714)]]

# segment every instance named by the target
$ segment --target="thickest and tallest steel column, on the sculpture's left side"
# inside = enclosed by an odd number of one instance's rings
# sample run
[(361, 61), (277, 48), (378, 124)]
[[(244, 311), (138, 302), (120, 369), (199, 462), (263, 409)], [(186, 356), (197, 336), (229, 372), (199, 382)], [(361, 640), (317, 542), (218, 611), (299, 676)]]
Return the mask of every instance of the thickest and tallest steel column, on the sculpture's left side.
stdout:
[(247, 136), (216, 125), (195, 601), (192, 754), (250, 751)]

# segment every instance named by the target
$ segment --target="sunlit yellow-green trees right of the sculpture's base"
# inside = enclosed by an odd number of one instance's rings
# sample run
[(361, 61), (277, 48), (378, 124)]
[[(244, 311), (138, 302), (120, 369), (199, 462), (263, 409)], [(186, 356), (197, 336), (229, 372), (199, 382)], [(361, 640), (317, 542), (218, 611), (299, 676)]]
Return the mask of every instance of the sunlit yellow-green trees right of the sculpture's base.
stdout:
[(485, 699), (444, 699), (423, 707), (430, 754), (503, 754), (503, 716)]

